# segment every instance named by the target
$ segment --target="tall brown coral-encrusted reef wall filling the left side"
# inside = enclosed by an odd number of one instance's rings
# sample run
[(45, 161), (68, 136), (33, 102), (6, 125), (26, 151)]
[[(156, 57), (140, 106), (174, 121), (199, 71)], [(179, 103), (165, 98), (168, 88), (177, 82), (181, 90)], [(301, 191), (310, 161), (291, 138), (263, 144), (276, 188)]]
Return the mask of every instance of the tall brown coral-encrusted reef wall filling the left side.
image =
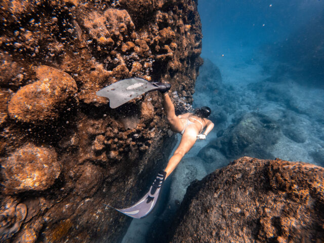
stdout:
[(117, 109), (96, 91), (132, 76), (192, 102), (197, 1), (0, 3), (0, 239), (118, 242), (127, 207), (165, 166), (158, 93)]

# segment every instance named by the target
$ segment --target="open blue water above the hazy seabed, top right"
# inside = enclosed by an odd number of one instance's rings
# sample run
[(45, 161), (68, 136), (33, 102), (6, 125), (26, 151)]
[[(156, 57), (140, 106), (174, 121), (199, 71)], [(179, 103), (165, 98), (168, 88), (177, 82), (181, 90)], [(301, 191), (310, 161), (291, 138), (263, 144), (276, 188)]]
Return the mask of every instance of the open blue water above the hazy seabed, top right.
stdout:
[[(215, 63), (247, 58), (264, 44), (277, 44), (322, 13), (323, 1), (201, 0), (201, 56)], [(220, 59), (224, 55), (225, 60)]]

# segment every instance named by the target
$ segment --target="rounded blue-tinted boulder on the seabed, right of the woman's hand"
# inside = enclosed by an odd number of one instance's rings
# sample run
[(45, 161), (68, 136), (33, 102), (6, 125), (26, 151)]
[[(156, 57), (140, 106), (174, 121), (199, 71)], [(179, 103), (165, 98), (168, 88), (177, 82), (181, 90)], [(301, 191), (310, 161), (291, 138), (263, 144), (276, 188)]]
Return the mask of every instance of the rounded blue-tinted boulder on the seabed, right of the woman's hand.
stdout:
[(198, 156), (208, 161), (210, 152), (207, 150), (214, 148), (231, 159), (245, 155), (273, 158), (268, 152), (269, 147), (276, 144), (279, 137), (280, 127), (273, 119), (256, 112), (246, 113), (234, 120), (219, 138), (201, 149)]

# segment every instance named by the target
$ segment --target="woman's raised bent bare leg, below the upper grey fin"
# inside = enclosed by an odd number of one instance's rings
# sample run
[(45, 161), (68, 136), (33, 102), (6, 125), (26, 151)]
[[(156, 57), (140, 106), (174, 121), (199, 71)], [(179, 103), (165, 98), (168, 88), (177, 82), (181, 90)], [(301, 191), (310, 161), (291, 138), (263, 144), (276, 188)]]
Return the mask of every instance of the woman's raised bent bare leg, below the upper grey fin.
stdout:
[(163, 94), (163, 107), (166, 111), (167, 119), (170, 123), (172, 131), (180, 133), (183, 130), (183, 124), (178, 116), (176, 116), (174, 105), (168, 93)]

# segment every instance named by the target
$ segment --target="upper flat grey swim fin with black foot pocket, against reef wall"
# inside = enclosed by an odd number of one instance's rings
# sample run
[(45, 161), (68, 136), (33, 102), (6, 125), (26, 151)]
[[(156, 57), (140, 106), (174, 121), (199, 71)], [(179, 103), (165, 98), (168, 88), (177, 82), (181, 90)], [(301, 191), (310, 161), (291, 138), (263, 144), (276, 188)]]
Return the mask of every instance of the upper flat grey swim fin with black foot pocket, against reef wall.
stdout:
[(110, 108), (117, 108), (118, 106), (123, 105), (145, 93), (156, 90), (167, 92), (170, 88), (170, 84), (157, 82), (150, 83), (143, 78), (133, 77), (119, 80), (118, 82), (99, 90), (96, 95), (108, 98)]

